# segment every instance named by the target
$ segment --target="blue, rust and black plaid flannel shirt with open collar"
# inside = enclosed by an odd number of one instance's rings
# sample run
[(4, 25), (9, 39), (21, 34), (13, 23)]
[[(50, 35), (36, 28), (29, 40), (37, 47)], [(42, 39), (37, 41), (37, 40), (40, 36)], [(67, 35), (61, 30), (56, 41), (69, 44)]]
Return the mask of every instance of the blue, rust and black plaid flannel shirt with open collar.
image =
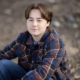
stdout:
[(54, 29), (46, 30), (35, 48), (29, 32), (20, 33), (16, 40), (0, 50), (0, 59), (15, 57), (27, 72), (32, 70), (21, 80), (71, 80), (65, 45)]

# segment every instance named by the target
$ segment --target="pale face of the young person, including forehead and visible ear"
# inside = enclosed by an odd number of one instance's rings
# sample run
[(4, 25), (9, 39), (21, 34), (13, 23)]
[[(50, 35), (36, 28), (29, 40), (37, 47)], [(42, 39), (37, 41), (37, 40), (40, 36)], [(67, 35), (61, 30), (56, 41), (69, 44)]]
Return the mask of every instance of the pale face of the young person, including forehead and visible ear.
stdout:
[(39, 9), (32, 9), (27, 19), (27, 30), (32, 37), (42, 37), (49, 22), (41, 17)]

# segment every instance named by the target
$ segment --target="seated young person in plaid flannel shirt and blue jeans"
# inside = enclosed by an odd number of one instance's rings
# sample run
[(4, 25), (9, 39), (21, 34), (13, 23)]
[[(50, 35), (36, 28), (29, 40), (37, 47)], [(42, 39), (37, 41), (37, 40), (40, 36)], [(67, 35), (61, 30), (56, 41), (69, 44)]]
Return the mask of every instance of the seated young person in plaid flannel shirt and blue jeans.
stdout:
[[(71, 80), (65, 44), (50, 28), (52, 17), (43, 3), (27, 7), (27, 30), (0, 50), (0, 80)], [(15, 57), (18, 64), (11, 61)]]

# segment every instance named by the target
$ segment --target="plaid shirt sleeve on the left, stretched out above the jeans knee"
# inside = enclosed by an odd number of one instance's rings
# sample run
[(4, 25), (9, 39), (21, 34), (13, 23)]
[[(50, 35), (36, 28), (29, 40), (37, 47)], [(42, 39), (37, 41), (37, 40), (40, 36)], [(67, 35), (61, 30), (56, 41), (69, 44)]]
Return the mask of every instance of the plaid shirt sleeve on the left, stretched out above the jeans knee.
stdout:
[(16, 40), (12, 41), (12, 43), (7, 45), (3, 50), (0, 50), (0, 60), (1, 59), (13, 59), (17, 57), (15, 53), (18, 48), (19, 40), (20, 40), (20, 34)]

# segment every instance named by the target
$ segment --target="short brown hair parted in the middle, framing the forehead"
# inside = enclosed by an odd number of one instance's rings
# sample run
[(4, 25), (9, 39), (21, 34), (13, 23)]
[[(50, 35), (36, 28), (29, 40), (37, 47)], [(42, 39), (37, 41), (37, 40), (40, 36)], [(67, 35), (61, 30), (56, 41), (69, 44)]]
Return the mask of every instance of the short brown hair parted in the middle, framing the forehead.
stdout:
[(47, 22), (51, 23), (53, 14), (52, 14), (51, 9), (47, 5), (45, 5), (43, 3), (34, 3), (30, 6), (28, 6), (28, 8), (25, 11), (25, 18), (26, 19), (29, 18), (29, 14), (32, 9), (39, 9), (41, 12), (42, 18), (46, 19)]

